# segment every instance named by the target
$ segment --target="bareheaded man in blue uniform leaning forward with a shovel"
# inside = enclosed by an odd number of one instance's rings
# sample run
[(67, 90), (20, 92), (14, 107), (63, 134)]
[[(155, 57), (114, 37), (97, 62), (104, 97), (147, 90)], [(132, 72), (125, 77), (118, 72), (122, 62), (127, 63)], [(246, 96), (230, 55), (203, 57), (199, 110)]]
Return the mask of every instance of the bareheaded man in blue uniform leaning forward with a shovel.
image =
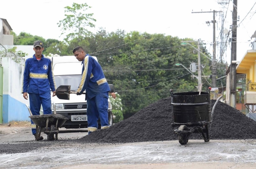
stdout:
[(73, 50), (77, 60), (82, 61), (82, 78), (77, 89), (77, 95), (86, 91), (88, 134), (98, 129), (100, 118), (101, 128), (109, 128), (108, 98), (110, 87), (100, 64), (86, 54), (81, 46)]

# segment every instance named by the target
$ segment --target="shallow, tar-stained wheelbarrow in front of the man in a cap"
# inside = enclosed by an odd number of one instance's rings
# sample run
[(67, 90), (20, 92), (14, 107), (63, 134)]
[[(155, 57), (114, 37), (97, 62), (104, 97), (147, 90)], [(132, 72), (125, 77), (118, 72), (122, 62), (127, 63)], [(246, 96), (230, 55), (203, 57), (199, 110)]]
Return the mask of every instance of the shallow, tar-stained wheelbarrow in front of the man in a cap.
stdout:
[[(36, 134), (35, 139), (38, 141), (41, 135), (42, 130), (45, 134), (47, 134), (47, 140), (58, 140), (58, 133), (59, 127), (61, 127), (68, 118), (62, 116), (61, 114), (56, 114), (55, 104), (53, 103), (54, 107), (54, 114), (42, 114), (42, 115), (33, 115), (28, 105), (26, 105), (28, 111), (30, 113), (29, 118), (34, 122), (36, 125)], [(54, 138), (55, 134), (55, 138)]]

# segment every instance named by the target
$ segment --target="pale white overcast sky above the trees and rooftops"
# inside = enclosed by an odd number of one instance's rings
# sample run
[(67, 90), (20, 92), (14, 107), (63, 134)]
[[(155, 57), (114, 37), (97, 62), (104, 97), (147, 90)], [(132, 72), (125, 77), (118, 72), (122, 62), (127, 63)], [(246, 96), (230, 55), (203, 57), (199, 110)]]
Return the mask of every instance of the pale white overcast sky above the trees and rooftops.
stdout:
[[(97, 21), (94, 33), (100, 27), (108, 32), (118, 29), (161, 33), (179, 38), (192, 38), (206, 43), (207, 50), (212, 54), (213, 13), (192, 13), (222, 11), (225, 17), (224, 29), (230, 30), (232, 25), (233, 1), (226, 0), (8, 0), (0, 2), (0, 18), (7, 19), (16, 34), (27, 32), (42, 36), (44, 39), (63, 40), (61, 29), (57, 23), (65, 18), (64, 7), (72, 3), (87, 3)], [(228, 3), (229, 2), (229, 3)], [(246, 50), (252, 49), (251, 36), (256, 31), (256, 1), (238, 0), (237, 60), (240, 61)], [(255, 5), (255, 6), (254, 6)], [(216, 40), (220, 41), (221, 12), (217, 12)], [(255, 15), (254, 15), (255, 14)], [(241, 23), (240, 23), (241, 22)], [(231, 37), (231, 35), (230, 35)], [(216, 46), (216, 59), (219, 57)], [(227, 45), (224, 60), (230, 63), (231, 45)], [(203, 56), (201, 56), (203, 57)]]

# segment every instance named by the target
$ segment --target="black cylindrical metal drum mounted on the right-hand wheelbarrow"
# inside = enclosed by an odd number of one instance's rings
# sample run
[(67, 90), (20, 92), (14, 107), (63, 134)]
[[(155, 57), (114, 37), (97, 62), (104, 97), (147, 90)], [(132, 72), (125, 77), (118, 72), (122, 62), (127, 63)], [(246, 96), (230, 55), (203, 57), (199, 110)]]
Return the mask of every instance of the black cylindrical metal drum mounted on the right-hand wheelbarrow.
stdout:
[(202, 126), (212, 121), (208, 92), (173, 93), (171, 105), (174, 125)]

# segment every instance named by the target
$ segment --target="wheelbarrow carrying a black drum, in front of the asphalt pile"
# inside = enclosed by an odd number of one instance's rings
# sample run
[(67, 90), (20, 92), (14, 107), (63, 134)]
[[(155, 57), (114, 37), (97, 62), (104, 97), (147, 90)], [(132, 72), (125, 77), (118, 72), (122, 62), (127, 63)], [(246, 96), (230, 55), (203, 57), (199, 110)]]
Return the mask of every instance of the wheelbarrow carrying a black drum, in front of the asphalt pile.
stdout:
[(174, 130), (180, 144), (187, 144), (191, 133), (199, 133), (205, 142), (209, 142), (208, 125), (212, 122), (212, 116), (220, 96), (211, 111), (211, 99), (209, 92), (183, 92), (173, 93), (172, 96), (172, 127), (179, 126)]

